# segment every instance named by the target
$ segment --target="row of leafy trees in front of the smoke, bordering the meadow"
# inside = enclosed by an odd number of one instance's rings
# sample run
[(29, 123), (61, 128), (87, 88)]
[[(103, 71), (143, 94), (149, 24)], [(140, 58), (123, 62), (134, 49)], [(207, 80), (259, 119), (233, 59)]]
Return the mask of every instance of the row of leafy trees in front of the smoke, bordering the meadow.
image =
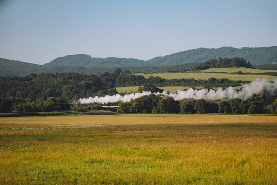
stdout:
[[(145, 95), (130, 102), (120, 102), (119, 113), (179, 113), (179, 114), (261, 114), (277, 113), (277, 96), (263, 95), (249, 97), (245, 101), (239, 98), (221, 100), (220, 102), (204, 99), (183, 99), (176, 101), (165, 95)], [(274, 101), (275, 100), (275, 101)]]

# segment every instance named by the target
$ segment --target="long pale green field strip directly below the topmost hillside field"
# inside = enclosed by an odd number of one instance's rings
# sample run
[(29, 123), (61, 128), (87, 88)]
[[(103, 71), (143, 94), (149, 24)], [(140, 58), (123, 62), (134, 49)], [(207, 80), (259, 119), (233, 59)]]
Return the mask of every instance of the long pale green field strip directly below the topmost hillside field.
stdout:
[(152, 74), (143, 74), (139, 73), (137, 75), (142, 75), (145, 78), (149, 78), (150, 76), (161, 77), (164, 79), (181, 79), (181, 78), (194, 78), (196, 80), (208, 80), (209, 78), (227, 78), (230, 80), (245, 80), (245, 81), (253, 81), (256, 78), (266, 78), (271, 81), (276, 79), (277, 76), (270, 75), (239, 75), (239, 74), (228, 74), (228, 73), (207, 73), (207, 72), (175, 72), (175, 73), (152, 73)]

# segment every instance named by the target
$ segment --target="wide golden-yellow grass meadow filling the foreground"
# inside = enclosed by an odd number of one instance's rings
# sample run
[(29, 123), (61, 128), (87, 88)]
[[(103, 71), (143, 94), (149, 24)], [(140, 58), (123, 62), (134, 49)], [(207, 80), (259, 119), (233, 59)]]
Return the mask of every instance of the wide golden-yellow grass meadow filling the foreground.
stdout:
[(0, 184), (276, 184), (277, 117), (0, 118)]

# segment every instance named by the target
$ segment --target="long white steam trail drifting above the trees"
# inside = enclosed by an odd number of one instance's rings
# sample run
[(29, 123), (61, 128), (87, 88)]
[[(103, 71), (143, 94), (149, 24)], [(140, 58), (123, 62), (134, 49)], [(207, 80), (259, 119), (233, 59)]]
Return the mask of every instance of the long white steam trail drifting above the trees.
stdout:
[[(242, 100), (247, 99), (248, 97), (253, 96), (254, 94), (260, 94), (264, 90), (267, 90), (269, 93), (273, 94), (275, 90), (277, 90), (277, 79), (274, 79), (274, 82), (270, 82), (267, 79), (256, 79), (252, 81), (250, 84), (243, 84), (242, 89), (240, 91), (235, 90), (233, 87), (229, 87), (226, 90), (219, 88), (217, 90), (193, 90), (192, 88), (188, 90), (178, 90), (177, 93), (166, 94), (163, 91), (164, 95), (171, 96), (175, 100), (182, 100), (184, 98), (194, 98), (194, 99), (205, 99), (205, 100), (228, 100), (231, 98), (240, 98)], [(118, 101), (128, 102), (131, 99), (135, 99), (144, 95), (149, 95), (151, 92), (143, 92), (143, 93), (131, 93), (121, 96), (119, 94), (116, 95), (106, 95), (105, 97), (95, 96), (94, 98), (83, 98), (79, 99), (80, 103), (113, 103)], [(160, 93), (154, 93), (155, 95)]]

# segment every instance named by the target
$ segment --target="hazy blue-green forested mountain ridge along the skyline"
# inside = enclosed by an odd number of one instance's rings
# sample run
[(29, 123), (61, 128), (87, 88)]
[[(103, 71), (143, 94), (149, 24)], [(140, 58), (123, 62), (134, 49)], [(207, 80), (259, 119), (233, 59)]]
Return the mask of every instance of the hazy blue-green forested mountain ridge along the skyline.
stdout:
[[(28, 73), (79, 72), (100, 73), (111, 72), (116, 67), (126, 67), (131, 72), (167, 72), (191, 69), (199, 62), (214, 58), (242, 57), (252, 65), (268, 65), (277, 63), (277, 46), (271, 47), (221, 47), (217, 49), (198, 48), (177, 52), (163, 57), (143, 61), (132, 58), (94, 58), (87, 54), (58, 57), (44, 65), (13, 61), (0, 58), (0, 76), (18, 76)], [(146, 67), (147, 66), (147, 67)]]

